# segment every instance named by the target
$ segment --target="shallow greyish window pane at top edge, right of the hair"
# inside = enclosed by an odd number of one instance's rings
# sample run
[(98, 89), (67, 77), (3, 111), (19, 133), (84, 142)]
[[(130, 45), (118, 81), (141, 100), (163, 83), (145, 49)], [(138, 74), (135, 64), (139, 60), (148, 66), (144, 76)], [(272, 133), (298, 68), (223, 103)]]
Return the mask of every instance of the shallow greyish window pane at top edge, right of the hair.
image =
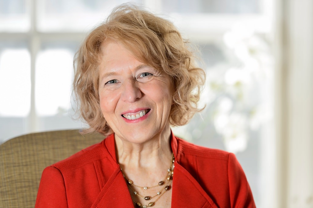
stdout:
[(162, 0), (162, 9), (178, 13), (259, 13), (260, 0)]

